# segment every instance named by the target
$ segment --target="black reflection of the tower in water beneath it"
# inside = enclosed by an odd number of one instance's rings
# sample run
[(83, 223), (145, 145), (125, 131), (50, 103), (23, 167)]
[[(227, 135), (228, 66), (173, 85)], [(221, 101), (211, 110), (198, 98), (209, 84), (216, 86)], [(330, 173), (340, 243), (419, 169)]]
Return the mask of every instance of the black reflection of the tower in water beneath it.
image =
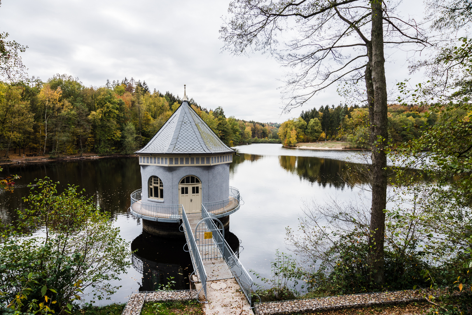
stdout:
[[(229, 247), (239, 257), (239, 239), (225, 232)], [(185, 238), (161, 238), (143, 231), (131, 242), (133, 267), (143, 274), (140, 291), (154, 291), (175, 281), (172, 289), (189, 289), (189, 276), (194, 271), (188, 252), (184, 251)], [(187, 249), (187, 246), (185, 246)]]

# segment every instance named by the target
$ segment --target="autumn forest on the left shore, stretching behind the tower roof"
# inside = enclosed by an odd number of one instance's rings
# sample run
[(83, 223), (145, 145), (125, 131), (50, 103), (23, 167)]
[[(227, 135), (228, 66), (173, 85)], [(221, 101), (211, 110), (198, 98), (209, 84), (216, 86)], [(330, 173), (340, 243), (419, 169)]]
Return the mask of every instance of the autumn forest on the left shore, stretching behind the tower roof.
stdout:
[[(151, 140), (181, 104), (179, 96), (150, 91), (145, 81), (107, 80), (86, 87), (78, 78), (55, 75), (0, 83), (0, 150), (50, 156), (93, 152), (133, 153)], [(223, 108), (190, 104), (227, 145), (280, 143), (277, 123), (226, 117)]]

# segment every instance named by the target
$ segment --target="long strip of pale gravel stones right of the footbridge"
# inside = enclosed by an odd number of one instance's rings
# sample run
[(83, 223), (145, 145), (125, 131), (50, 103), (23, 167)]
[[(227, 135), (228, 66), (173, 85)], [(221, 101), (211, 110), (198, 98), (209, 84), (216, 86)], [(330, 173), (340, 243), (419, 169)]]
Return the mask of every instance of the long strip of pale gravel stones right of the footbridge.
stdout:
[(424, 301), (427, 296), (438, 296), (438, 290), (402, 290), (378, 293), (352, 294), (336, 297), (310, 298), (280, 302), (255, 303), (257, 315), (282, 315), (313, 313), (323, 310), (338, 310), (374, 305), (388, 305)]

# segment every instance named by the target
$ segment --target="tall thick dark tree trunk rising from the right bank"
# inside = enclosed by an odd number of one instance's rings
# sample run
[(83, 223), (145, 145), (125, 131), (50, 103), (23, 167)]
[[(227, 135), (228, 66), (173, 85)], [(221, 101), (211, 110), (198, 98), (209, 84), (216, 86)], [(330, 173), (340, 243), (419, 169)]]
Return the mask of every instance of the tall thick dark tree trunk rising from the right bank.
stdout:
[(372, 0), (372, 84), (374, 90), (374, 108), (371, 115), (372, 134), (372, 208), (369, 237), (370, 267), (372, 280), (383, 284), (384, 279), (384, 233), (387, 205), (387, 83), (385, 79), (385, 58), (382, 26), (382, 2)]

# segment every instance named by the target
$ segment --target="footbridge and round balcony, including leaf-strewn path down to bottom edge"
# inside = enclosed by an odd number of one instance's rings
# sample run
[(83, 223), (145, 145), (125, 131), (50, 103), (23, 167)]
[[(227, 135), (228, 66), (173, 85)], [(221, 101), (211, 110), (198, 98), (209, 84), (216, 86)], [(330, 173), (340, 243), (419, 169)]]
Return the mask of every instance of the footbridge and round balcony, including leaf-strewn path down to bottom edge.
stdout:
[(228, 199), (204, 203), (201, 213), (189, 214), (182, 204), (149, 203), (142, 197), (141, 189), (131, 194), (129, 210), (136, 217), (182, 223), (181, 231), (187, 240), (184, 248), (190, 254), (196, 275), (191, 280), (206, 299), (206, 314), (253, 314), (250, 308), (253, 280), (224, 239), (218, 220), (239, 209), (242, 200), (239, 190), (229, 187)]

